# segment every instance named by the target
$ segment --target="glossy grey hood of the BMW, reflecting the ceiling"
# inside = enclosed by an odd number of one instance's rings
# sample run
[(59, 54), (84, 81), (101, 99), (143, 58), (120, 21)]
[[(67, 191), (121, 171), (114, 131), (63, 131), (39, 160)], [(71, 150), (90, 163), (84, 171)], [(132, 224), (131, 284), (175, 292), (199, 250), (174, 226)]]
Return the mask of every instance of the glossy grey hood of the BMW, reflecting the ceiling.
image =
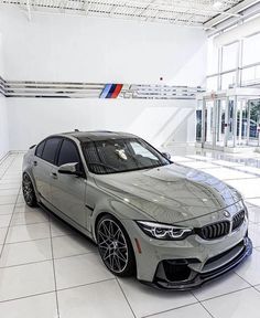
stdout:
[(96, 176), (99, 188), (153, 220), (176, 223), (223, 210), (241, 195), (217, 178), (181, 165)]

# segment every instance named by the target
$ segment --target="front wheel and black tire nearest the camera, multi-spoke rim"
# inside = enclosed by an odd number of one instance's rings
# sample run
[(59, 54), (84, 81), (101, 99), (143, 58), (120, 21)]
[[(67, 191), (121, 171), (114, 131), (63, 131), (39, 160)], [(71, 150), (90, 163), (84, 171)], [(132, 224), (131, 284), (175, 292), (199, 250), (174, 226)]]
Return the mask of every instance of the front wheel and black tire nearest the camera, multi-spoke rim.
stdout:
[(113, 275), (128, 277), (136, 274), (131, 241), (116, 218), (104, 215), (97, 223), (96, 237), (102, 262)]

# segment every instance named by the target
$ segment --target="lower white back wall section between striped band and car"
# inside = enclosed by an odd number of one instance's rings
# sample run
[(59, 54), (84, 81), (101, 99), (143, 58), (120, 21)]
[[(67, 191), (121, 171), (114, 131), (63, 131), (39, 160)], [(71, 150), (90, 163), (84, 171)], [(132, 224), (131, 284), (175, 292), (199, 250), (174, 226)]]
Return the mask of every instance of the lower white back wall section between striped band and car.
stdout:
[(156, 147), (174, 136), (177, 142), (195, 136), (195, 100), (8, 98), (7, 104), (11, 150), (75, 128), (129, 131)]

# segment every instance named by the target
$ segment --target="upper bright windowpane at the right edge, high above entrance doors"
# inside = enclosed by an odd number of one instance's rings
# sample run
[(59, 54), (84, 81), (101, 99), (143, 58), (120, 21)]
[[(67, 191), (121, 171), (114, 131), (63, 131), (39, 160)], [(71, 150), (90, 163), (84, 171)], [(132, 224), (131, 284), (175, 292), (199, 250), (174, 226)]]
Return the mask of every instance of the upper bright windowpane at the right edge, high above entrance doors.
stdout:
[(260, 33), (246, 38), (242, 46), (242, 65), (260, 62)]

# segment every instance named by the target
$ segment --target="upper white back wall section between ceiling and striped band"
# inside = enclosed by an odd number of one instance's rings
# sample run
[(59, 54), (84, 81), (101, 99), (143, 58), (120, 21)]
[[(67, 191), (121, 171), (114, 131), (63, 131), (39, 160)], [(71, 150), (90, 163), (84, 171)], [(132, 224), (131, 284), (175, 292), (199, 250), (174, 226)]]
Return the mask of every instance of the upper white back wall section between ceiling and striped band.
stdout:
[[(9, 80), (201, 85), (203, 30), (1, 7)], [(160, 82), (162, 83), (162, 82)]]

